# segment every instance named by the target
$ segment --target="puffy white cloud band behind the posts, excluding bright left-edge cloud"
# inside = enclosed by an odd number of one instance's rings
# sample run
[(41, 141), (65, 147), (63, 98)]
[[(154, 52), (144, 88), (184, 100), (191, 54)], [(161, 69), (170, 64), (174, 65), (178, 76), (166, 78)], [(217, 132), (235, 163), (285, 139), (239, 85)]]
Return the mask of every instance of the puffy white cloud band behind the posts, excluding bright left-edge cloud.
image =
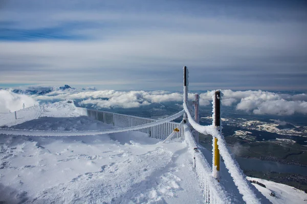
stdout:
[[(208, 106), (212, 100), (214, 91), (207, 91), (200, 94), (200, 105)], [(305, 100), (306, 94), (278, 94), (269, 91), (232, 91), (222, 90), (223, 106), (235, 105), (237, 110), (252, 112), (254, 114), (292, 115), (295, 113), (307, 113)], [(189, 93), (189, 99), (194, 99), (194, 94)], [(82, 104), (95, 104), (99, 107), (123, 107), (136, 108), (152, 103), (163, 103), (176, 101), (181, 103), (182, 93), (169, 91), (83, 91), (68, 90), (54, 91), (47, 95), (37, 96), (37, 99), (85, 99)], [(105, 99), (101, 99), (105, 98)], [(108, 100), (106, 100), (108, 99)]]

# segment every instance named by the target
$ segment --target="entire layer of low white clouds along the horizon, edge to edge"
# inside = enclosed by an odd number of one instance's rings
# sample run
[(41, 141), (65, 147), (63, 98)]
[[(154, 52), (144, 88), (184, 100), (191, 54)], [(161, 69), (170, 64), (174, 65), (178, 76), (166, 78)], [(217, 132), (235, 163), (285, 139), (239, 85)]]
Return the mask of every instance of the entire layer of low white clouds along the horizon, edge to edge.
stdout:
[[(95, 87), (86, 89), (61, 90), (56, 87), (36, 87), (40, 91), (52, 89), (53, 91), (44, 95), (22, 95), (15, 94), (10, 90), (0, 90), (0, 112), (14, 111), (33, 106), (36, 101), (54, 101), (64, 99), (78, 99), (80, 105), (95, 105), (100, 108), (138, 108), (155, 103), (173, 102), (180, 105), (183, 101), (183, 94), (170, 91), (115, 91), (96, 90)], [(27, 87), (24, 90), (35, 89)], [(307, 94), (285, 94), (270, 91), (232, 91), (222, 90), (222, 105), (234, 107), (236, 111), (244, 111), (257, 115), (281, 115), (307, 114)], [(200, 105), (209, 106), (214, 91), (207, 91), (200, 94)], [(194, 99), (194, 94), (188, 94), (189, 100)]]

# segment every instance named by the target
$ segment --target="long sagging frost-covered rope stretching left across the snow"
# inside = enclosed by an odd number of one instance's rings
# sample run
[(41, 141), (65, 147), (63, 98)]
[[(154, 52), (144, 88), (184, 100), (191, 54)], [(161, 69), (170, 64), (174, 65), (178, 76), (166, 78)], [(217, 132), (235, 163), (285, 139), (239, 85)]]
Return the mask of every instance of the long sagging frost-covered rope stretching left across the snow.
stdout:
[(142, 124), (132, 127), (123, 127), (119, 129), (103, 130), (103, 131), (37, 131), (37, 130), (17, 130), (17, 129), (0, 128), (0, 134), (25, 135), (25, 136), (87, 136), (87, 135), (121, 133), (121, 132), (134, 131), (151, 126), (160, 125), (180, 117), (181, 115), (183, 115), (184, 112), (185, 111), (182, 110), (179, 113), (176, 113), (172, 116), (147, 124)]

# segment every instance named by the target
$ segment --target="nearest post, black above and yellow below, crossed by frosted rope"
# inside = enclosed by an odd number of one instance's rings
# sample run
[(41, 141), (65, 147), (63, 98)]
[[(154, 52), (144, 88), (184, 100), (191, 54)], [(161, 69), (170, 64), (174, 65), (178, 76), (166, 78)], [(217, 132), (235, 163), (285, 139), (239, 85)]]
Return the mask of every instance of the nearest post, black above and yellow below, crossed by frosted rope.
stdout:
[[(221, 91), (215, 91), (214, 95), (214, 126), (218, 131), (221, 131)], [(220, 150), (218, 150), (217, 138), (213, 137), (214, 140), (214, 165), (213, 165), (213, 175), (216, 179), (220, 177)]]

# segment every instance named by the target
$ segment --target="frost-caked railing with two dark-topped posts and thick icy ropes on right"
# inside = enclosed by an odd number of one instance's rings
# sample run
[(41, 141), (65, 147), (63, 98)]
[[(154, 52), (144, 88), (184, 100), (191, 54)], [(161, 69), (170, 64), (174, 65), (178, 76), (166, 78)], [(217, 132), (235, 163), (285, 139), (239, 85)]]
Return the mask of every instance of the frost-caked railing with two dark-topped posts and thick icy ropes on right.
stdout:
[[(221, 125), (221, 93), (216, 91), (213, 95), (212, 105), (213, 105), (213, 115), (212, 115), (212, 125), (203, 126), (198, 123), (196, 118), (194, 119), (190, 113), (188, 107), (188, 70), (184, 67), (184, 101), (183, 107), (185, 110), (184, 120), (199, 133), (204, 135), (212, 135), (213, 137), (213, 158), (212, 158), (212, 168), (208, 171), (208, 162), (203, 156), (202, 152), (199, 151), (196, 141), (198, 138), (192, 136), (188, 131), (187, 125), (185, 125), (186, 140), (192, 150), (193, 162), (196, 174), (198, 175), (201, 188), (204, 192), (205, 200), (207, 203), (231, 203), (231, 196), (227, 195), (227, 191), (223, 190), (220, 183), (220, 157), (224, 159), (225, 167), (230, 173), (234, 184), (236, 185), (239, 193), (242, 195), (243, 200), (246, 203), (269, 203), (269, 200), (263, 196), (251, 183), (246, 179), (246, 175), (240, 169), (238, 163), (234, 159), (233, 155), (227, 148), (226, 141), (222, 135), (222, 125)], [(195, 104), (197, 104), (196, 101)], [(195, 108), (196, 110), (196, 108)], [(198, 115), (198, 114), (195, 114)], [(221, 154), (221, 156), (220, 156)], [(215, 180), (215, 184), (214, 181)], [(218, 182), (218, 183), (216, 183)], [(222, 198), (222, 199), (221, 199)]]

